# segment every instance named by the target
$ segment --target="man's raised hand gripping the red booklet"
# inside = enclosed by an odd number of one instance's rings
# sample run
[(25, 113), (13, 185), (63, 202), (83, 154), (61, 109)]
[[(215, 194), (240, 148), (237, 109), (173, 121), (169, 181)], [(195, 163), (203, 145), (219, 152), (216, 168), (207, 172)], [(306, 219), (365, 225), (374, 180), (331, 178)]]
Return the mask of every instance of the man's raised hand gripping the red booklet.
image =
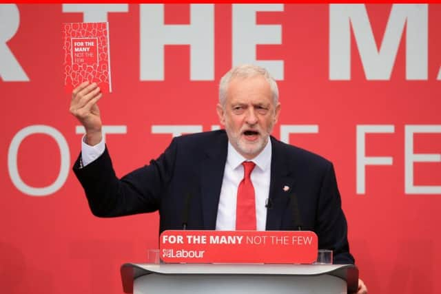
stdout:
[(103, 96), (96, 83), (90, 84), (88, 81), (81, 83), (72, 91), (70, 101), (70, 113), (80, 121), (85, 128), (85, 143), (94, 146), (101, 142), (101, 116), (96, 104)]

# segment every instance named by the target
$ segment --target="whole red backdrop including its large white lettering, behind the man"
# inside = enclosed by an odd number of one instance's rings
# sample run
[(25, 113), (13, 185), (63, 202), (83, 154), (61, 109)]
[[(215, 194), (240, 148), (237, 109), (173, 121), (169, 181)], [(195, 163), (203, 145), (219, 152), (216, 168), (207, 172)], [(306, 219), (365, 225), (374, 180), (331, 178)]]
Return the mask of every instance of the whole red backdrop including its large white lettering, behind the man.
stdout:
[(334, 165), (369, 293), (438, 293), (441, 5), (424, 3), (1, 4), (2, 293), (119, 294), (119, 266), (158, 248), (158, 213), (96, 218), (72, 173), (84, 129), (60, 28), (83, 22), (109, 25), (98, 105), (117, 176), (218, 129), (220, 77), (261, 65), (272, 136)]

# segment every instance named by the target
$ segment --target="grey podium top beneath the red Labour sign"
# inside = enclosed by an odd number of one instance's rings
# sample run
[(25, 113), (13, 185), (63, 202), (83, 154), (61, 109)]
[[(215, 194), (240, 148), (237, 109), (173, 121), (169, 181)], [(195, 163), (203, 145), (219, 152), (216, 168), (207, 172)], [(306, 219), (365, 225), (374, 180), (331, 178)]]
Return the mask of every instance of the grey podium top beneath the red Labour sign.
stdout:
[(353, 264), (123, 264), (125, 293), (356, 292)]

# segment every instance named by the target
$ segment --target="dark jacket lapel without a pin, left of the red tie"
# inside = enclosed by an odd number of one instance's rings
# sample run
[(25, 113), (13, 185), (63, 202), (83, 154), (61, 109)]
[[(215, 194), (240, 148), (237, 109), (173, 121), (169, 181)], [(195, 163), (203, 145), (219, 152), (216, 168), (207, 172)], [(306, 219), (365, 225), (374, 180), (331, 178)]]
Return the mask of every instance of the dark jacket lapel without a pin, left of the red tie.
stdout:
[(216, 229), (216, 216), (223, 182), (223, 172), (227, 161), (227, 135), (213, 142), (212, 149), (206, 151), (206, 158), (201, 162), (201, 194), (203, 227)]

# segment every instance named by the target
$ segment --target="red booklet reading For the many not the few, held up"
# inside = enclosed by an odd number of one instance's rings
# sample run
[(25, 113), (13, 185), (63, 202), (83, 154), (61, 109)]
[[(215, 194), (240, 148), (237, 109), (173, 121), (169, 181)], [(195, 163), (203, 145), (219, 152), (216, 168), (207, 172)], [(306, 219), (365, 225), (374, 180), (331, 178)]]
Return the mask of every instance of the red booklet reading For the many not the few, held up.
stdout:
[(109, 23), (63, 23), (64, 85), (66, 92), (84, 81), (101, 92), (112, 92)]

